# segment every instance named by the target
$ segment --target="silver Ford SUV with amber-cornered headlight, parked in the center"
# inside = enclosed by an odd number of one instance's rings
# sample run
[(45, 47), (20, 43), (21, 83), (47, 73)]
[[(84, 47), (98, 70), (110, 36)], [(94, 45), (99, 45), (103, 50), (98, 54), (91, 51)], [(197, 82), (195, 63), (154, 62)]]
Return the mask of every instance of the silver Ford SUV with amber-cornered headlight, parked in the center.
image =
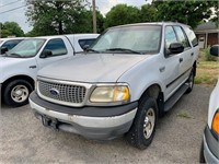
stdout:
[(87, 52), (43, 68), (30, 105), (44, 126), (101, 140), (125, 134), (146, 149), (158, 115), (193, 90), (198, 52), (184, 24), (112, 27)]

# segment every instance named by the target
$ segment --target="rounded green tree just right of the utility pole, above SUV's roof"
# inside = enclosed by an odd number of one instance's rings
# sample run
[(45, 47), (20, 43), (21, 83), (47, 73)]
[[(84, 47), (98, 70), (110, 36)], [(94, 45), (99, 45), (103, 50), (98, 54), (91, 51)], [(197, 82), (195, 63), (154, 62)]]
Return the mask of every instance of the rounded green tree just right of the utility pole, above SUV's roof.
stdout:
[(139, 9), (127, 4), (117, 4), (106, 14), (105, 27), (140, 22)]

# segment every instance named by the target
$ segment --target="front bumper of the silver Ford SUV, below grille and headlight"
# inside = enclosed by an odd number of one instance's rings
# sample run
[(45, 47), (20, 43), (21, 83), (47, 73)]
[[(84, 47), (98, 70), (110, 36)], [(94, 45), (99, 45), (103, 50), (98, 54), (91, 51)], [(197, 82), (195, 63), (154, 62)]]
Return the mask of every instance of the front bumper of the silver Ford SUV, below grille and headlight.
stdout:
[[(111, 110), (113, 110), (114, 107), (96, 107), (95, 109), (93, 107), (64, 107), (61, 109), (59, 108), (59, 105), (41, 99), (35, 93), (32, 93), (30, 96), (30, 105), (33, 108), (35, 116), (48, 127), (78, 133), (90, 139), (102, 140), (113, 139), (127, 132), (137, 112), (137, 103), (126, 105), (125, 108), (122, 106), (120, 108), (126, 112), (124, 113), (120, 110), (120, 115), (111, 114)], [(130, 107), (132, 108), (130, 109)], [(92, 116), (85, 115), (85, 112), (91, 109), (94, 109)], [(99, 113), (96, 110), (99, 110)], [(110, 113), (107, 114), (108, 110)], [(77, 115), (79, 113), (81, 113), (81, 115)], [(94, 114), (96, 116), (93, 116)]]

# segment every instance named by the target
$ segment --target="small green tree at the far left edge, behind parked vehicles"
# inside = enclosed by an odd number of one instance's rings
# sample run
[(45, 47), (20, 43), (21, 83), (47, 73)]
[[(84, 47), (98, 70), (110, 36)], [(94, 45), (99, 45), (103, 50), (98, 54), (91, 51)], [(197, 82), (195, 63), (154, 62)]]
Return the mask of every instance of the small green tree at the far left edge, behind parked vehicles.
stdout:
[(0, 23), (0, 26), (1, 26), (1, 37), (24, 36), (24, 32), (22, 31), (22, 28), (19, 26), (16, 22)]

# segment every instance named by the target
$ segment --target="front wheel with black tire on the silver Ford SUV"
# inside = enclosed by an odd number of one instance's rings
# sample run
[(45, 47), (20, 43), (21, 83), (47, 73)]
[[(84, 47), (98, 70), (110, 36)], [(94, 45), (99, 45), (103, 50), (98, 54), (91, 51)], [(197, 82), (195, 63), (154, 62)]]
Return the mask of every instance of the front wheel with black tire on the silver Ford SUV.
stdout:
[(145, 150), (154, 137), (157, 119), (158, 106), (155, 99), (152, 97), (142, 98), (139, 102), (131, 128), (126, 133), (126, 140), (134, 147)]

